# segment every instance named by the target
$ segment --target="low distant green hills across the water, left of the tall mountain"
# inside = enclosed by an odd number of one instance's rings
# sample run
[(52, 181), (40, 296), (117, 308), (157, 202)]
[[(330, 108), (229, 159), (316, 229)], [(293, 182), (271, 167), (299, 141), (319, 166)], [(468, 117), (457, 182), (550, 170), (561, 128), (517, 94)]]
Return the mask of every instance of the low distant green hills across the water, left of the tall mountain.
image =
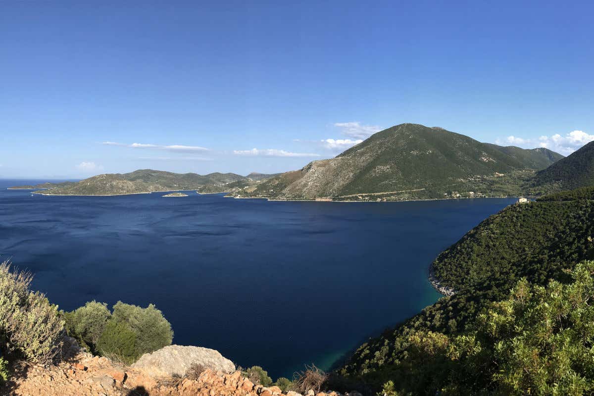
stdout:
[(235, 173), (172, 173), (142, 169), (130, 173), (93, 176), (66, 186), (36, 191), (44, 195), (119, 195), (154, 191), (197, 190), (206, 192), (228, 191), (228, 183), (245, 180)]

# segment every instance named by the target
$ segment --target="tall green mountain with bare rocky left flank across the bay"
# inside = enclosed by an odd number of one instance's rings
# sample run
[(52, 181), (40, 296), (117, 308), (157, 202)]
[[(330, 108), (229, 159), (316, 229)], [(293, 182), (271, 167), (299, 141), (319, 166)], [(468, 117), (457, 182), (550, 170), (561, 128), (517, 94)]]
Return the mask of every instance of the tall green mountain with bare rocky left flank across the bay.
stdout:
[(373, 201), (520, 195), (536, 170), (561, 158), (546, 148), (500, 147), (404, 123), (333, 159), (313, 161), (235, 195)]

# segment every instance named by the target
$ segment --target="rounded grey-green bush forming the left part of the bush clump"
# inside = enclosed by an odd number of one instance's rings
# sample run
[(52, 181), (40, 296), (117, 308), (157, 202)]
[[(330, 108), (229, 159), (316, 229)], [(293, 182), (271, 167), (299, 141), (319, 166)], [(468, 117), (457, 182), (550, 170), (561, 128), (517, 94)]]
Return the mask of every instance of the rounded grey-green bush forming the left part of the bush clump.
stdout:
[(99, 341), (110, 317), (108, 305), (94, 300), (64, 315), (68, 333), (92, 345)]

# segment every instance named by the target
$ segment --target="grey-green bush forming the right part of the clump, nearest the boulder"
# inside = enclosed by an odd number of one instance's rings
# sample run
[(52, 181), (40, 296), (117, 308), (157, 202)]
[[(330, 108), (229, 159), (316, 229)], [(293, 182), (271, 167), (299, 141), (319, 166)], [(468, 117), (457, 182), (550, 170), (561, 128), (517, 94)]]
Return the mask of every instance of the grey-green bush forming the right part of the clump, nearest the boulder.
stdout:
[(153, 304), (147, 308), (118, 301), (113, 306), (113, 319), (128, 324), (136, 334), (138, 357), (171, 345), (171, 324)]

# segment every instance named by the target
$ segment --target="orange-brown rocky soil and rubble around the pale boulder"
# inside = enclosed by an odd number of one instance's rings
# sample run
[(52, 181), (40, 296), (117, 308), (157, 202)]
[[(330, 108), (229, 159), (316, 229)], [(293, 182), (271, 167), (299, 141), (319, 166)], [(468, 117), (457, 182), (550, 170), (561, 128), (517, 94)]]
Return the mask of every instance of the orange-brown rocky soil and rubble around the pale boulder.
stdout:
[[(172, 347), (167, 347), (169, 350), (166, 355), (178, 354), (178, 350)], [(226, 359), (223, 357), (222, 359), (224, 359), (221, 362), (225, 369)], [(214, 367), (216, 368), (217, 365), (215, 364)], [(0, 395), (300, 396), (293, 391), (283, 393), (278, 387), (254, 384), (241, 372), (235, 370), (234, 366), (232, 367), (227, 373), (223, 370), (206, 369), (195, 378), (158, 376), (156, 373), (159, 373), (159, 370), (155, 370), (154, 367), (143, 365), (142, 368), (138, 368), (118, 365), (106, 357), (92, 356), (73, 343), (67, 348), (64, 359), (58, 365), (38, 366), (25, 362), (17, 364), (14, 367), (14, 376), (0, 388)], [(337, 392), (316, 393), (310, 390), (305, 396), (340, 395)], [(347, 396), (361, 395), (353, 392)]]

